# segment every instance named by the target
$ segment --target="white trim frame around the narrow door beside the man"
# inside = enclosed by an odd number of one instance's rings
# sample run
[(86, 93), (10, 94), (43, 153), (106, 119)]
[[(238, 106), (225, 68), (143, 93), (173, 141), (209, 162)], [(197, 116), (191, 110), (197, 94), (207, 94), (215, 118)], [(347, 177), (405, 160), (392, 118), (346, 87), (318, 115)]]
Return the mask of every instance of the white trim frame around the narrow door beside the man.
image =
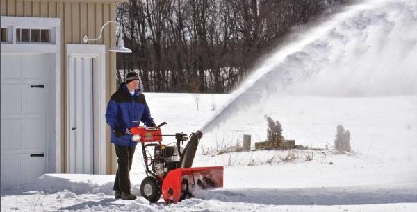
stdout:
[[(93, 103), (96, 107), (93, 109), (93, 142), (94, 150), (94, 174), (106, 174), (106, 47), (104, 45), (88, 44), (67, 44), (67, 91), (69, 91), (71, 58), (93, 58)], [(67, 104), (70, 103), (70, 94), (67, 94)], [(67, 105), (67, 117), (70, 113), (70, 105)], [(70, 118), (67, 118), (67, 132), (70, 132)], [(70, 133), (67, 133), (67, 141), (70, 141)], [(67, 148), (67, 171), (69, 168), (69, 151)]]

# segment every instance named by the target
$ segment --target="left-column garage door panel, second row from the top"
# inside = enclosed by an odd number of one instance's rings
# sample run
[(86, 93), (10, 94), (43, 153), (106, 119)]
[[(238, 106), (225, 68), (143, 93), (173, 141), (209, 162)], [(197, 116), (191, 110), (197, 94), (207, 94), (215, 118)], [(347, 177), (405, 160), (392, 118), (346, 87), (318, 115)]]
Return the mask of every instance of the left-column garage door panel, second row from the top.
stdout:
[(22, 113), (22, 91), (19, 88), (1, 85), (1, 115)]

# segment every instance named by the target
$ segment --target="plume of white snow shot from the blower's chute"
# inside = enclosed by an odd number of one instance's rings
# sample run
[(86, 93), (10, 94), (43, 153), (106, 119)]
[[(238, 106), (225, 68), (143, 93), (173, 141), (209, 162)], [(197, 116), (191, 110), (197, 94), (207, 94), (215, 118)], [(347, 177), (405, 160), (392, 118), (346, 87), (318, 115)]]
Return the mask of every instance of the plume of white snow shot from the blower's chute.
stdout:
[(271, 94), (417, 94), (416, 1), (350, 6), (297, 35), (261, 62), (203, 133)]

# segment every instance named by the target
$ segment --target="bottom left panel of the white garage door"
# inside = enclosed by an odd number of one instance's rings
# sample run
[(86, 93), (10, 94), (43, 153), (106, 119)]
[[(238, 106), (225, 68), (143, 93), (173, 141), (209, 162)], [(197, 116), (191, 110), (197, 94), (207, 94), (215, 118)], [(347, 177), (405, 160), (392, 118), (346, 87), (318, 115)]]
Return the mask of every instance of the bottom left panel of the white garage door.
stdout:
[(17, 155), (4, 155), (1, 157), (1, 188), (5, 186), (19, 186), (21, 183), (20, 160)]

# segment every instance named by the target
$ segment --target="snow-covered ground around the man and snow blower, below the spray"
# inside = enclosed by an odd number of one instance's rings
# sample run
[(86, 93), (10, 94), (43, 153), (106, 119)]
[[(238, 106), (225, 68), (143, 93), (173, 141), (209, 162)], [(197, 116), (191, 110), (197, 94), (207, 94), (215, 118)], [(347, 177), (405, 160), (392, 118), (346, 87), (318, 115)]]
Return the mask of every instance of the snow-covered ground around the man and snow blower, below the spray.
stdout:
[[(229, 96), (200, 94), (199, 111), (194, 94), (147, 94), (147, 101), (156, 121), (167, 121), (164, 133), (193, 132), (215, 113), (212, 98), (221, 107)], [(198, 154), (194, 166), (225, 166), (224, 188), (175, 205), (162, 199), (149, 204), (142, 197), (114, 200), (114, 175), (49, 174), (24, 189), (2, 191), (1, 211), (416, 211), (416, 96), (274, 96), (268, 102), (277, 103), (268, 114), (279, 118), (286, 138), (313, 148), (327, 144), (329, 150), (297, 150), (293, 162), (280, 159), (288, 151)], [(242, 134), (262, 141), (266, 121), (260, 108), (204, 134), (201, 147), (220, 143), (213, 138), (226, 132), (233, 132), (232, 144)], [(339, 123), (351, 131), (353, 154), (332, 151)], [(136, 151), (131, 172), (136, 195), (145, 177), (141, 163)]]

